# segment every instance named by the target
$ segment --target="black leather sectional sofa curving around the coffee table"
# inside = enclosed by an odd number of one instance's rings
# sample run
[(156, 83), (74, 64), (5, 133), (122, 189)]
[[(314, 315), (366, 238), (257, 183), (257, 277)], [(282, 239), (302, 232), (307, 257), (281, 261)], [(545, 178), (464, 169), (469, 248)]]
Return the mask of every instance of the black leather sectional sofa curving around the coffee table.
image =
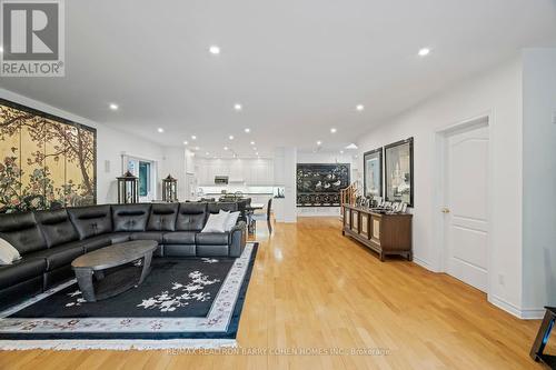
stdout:
[(200, 232), (210, 213), (236, 211), (234, 202), (138, 203), (0, 214), (0, 238), (21, 254), (0, 266), (0, 308), (73, 277), (71, 261), (129, 240), (156, 240), (158, 257), (239, 257), (247, 230)]

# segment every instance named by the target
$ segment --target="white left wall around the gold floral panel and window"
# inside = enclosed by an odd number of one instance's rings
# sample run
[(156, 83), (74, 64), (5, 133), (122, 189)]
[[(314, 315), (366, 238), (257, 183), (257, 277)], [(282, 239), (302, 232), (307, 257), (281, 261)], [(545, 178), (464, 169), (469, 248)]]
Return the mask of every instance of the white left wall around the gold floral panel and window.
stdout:
[[(58, 116), (97, 129), (97, 202), (112, 203), (118, 200), (116, 177), (121, 176), (121, 153), (156, 160), (160, 163), (163, 150), (160, 146), (131, 133), (113, 130), (102, 123), (72, 114), (40, 101), (0, 89), (0, 97), (53, 116)], [(106, 171), (109, 161), (109, 171)], [(160, 164), (158, 166), (160, 171)], [(158, 177), (160, 183), (160, 173)]]

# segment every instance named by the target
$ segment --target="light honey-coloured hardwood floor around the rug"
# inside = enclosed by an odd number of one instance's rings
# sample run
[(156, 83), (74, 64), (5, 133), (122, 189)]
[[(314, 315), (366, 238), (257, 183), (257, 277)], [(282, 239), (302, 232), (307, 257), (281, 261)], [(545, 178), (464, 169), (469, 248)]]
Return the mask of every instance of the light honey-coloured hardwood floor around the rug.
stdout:
[[(261, 229), (265, 229), (261, 226)], [(401, 259), (380, 262), (331, 218), (276, 224), (260, 241), (239, 326), (242, 348), (381, 348), (386, 356), (189, 356), (166, 351), (10, 351), (0, 369), (540, 369), (539, 321)], [(550, 347), (554, 350), (554, 346)]]

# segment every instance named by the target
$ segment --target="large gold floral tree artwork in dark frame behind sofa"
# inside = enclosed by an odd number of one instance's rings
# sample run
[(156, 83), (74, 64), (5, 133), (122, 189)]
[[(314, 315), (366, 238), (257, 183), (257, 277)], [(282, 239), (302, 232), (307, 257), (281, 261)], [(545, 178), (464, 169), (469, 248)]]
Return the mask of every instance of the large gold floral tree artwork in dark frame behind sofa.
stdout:
[(97, 130), (0, 99), (0, 213), (97, 202)]

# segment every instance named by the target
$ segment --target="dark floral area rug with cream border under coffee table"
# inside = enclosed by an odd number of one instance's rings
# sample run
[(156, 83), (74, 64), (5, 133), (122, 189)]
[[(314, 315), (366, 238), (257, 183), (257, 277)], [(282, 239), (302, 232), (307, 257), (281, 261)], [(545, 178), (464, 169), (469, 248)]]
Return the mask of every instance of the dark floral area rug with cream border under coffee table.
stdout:
[(0, 312), (0, 349), (169, 349), (235, 346), (257, 254), (155, 258), (142, 284), (87, 302), (70, 280)]

